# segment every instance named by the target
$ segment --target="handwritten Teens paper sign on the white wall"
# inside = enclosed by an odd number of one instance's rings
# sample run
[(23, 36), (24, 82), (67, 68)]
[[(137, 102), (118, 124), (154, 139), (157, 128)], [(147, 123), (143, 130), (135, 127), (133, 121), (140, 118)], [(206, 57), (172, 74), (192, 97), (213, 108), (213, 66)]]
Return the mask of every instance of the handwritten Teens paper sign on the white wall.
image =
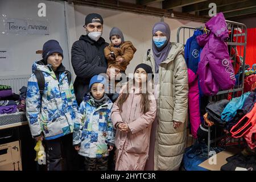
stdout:
[(7, 19), (5, 30), (11, 34), (49, 35), (49, 23), (38, 20)]

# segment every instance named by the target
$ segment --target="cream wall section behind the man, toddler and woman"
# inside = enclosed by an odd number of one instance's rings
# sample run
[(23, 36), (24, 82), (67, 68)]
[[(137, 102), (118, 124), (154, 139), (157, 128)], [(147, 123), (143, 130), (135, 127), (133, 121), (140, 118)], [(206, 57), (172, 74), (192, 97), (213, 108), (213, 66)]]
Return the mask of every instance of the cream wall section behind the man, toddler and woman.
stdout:
[[(90, 13), (98, 13), (104, 19), (104, 29), (102, 37), (106, 42), (109, 40), (109, 32), (112, 27), (118, 27), (122, 30), (125, 40), (130, 40), (137, 48), (134, 59), (126, 69), (126, 73), (133, 73), (137, 64), (141, 63), (147, 49), (151, 48), (152, 27), (154, 23), (159, 22), (160, 18), (156, 16), (140, 15), (134, 13), (123, 13), (122, 11), (102, 9), (90, 6), (75, 5), (76, 35), (77, 39), (82, 34), (86, 34), (84, 25), (85, 16)], [(203, 23), (189, 22), (185, 20), (164, 19), (171, 28), (171, 42), (176, 42), (177, 28), (180, 26), (203, 26)], [(191, 35), (192, 36), (192, 35)]]

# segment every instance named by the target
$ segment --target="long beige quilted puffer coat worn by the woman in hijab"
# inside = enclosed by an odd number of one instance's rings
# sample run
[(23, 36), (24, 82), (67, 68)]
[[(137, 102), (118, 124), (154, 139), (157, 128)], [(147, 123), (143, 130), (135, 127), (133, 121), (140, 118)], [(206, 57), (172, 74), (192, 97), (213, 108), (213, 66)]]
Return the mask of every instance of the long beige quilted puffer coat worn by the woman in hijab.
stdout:
[[(158, 125), (155, 137), (155, 170), (177, 170), (180, 167), (185, 149), (185, 132), (188, 113), (188, 72), (183, 56), (183, 46), (171, 43), (167, 59), (159, 65), (159, 75), (155, 76), (159, 85), (157, 100)], [(155, 72), (155, 60), (152, 51), (144, 63)], [(155, 80), (156, 82), (156, 80)], [(183, 124), (174, 129), (174, 122)]]

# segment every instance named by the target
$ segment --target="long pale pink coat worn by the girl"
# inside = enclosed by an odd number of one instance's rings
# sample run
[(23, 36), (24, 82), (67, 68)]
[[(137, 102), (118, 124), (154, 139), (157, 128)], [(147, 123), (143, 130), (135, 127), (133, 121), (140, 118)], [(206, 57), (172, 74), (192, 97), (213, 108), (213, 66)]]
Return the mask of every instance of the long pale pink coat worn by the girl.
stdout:
[[(131, 88), (133, 89), (133, 88)], [(116, 171), (142, 171), (148, 158), (151, 124), (156, 116), (156, 101), (151, 97), (150, 109), (143, 114), (141, 111), (141, 94), (131, 92), (120, 111), (117, 102), (112, 107), (112, 122), (125, 123), (130, 132), (116, 130)], [(115, 127), (116, 128), (116, 127)]]

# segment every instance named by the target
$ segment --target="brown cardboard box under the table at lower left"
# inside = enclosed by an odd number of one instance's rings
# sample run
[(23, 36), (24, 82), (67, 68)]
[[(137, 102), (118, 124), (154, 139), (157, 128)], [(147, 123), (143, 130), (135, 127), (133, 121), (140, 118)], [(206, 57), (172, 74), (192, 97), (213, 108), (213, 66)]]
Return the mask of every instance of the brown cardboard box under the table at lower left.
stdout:
[(0, 145), (0, 171), (22, 171), (19, 141)]

